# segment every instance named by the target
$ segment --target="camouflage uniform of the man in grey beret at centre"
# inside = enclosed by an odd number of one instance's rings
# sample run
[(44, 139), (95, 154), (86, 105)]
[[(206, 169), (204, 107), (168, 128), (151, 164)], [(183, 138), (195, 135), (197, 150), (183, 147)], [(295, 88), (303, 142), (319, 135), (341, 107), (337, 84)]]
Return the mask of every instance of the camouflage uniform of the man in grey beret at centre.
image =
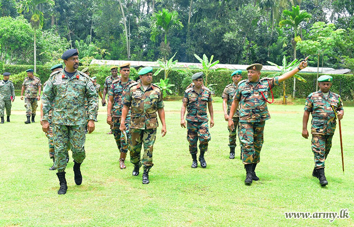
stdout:
[(187, 140), (191, 154), (198, 152), (198, 139), (200, 151), (208, 150), (211, 137), (206, 109), (207, 103), (211, 101), (211, 93), (207, 87), (202, 86), (199, 94), (194, 90), (194, 86), (185, 91), (182, 102), (187, 103)]

